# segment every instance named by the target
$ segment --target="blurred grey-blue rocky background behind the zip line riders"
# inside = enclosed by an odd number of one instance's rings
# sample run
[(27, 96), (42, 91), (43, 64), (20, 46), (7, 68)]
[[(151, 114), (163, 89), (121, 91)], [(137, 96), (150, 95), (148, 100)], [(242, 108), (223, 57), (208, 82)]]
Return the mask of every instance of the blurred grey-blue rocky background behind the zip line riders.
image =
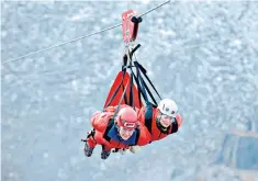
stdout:
[(138, 61), (183, 117), (135, 155), (83, 156), (80, 138), (121, 69), (121, 23), (161, 1), (1, 1), (3, 181), (258, 181), (258, 2), (171, 1), (139, 25)]

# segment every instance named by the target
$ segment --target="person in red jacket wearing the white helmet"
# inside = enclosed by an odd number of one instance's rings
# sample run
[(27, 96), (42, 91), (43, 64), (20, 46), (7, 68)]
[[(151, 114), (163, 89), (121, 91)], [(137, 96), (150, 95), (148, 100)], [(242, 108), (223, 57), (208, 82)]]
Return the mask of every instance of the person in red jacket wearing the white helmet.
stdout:
[(178, 132), (182, 117), (178, 114), (178, 106), (173, 100), (164, 99), (157, 108), (147, 103), (138, 112), (138, 120), (148, 128), (152, 142), (162, 139)]

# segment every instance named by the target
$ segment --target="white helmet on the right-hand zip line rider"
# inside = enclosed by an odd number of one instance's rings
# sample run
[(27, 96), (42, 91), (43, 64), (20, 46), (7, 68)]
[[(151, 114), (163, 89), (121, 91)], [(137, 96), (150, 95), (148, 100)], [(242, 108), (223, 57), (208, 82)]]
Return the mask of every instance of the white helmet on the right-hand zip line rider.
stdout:
[(178, 112), (178, 105), (173, 100), (164, 99), (158, 104), (158, 110), (168, 116), (176, 117)]

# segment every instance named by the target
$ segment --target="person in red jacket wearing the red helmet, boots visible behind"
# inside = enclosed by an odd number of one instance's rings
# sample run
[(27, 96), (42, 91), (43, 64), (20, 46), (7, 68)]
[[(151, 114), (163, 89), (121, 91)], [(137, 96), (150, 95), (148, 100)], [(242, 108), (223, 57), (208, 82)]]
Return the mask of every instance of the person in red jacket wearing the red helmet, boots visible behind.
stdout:
[(106, 159), (111, 149), (130, 149), (131, 146), (149, 144), (150, 134), (143, 123), (138, 122), (137, 113), (128, 105), (109, 106), (104, 112), (96, 112), (91, 117), (93, 129), (89, 133), (85, 146), (85, 155), (90, 157), (97, 145), (102, 146), (101, 158)]

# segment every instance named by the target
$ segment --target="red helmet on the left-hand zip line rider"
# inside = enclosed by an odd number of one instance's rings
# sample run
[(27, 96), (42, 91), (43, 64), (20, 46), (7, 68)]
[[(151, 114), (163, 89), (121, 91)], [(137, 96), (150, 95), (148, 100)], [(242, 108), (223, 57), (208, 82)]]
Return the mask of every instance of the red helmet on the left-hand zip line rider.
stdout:
[(126, 129), (137, 127), (137, 113), (132, 108), (123, 108), (117, 114), (117, 125)]

